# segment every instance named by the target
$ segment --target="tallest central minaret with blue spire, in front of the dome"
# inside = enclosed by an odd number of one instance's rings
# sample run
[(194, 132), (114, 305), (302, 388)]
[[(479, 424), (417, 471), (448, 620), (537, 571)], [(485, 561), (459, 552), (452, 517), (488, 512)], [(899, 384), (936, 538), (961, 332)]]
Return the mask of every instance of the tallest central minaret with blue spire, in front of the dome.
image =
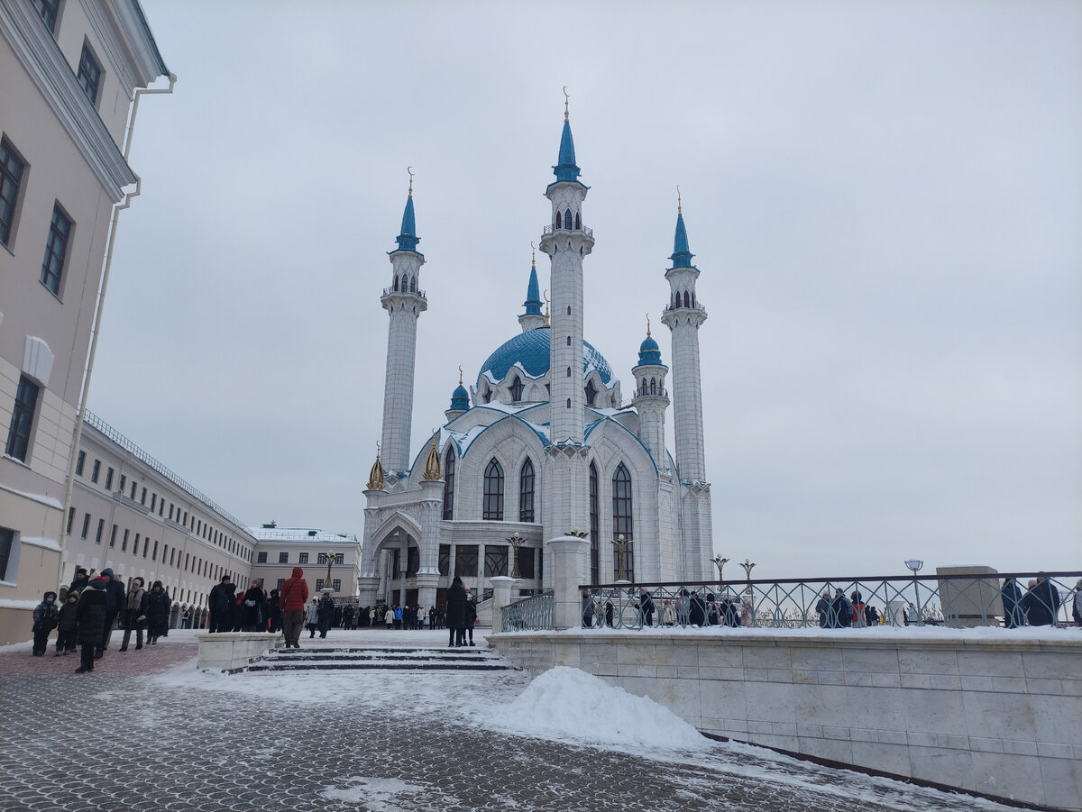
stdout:
[(553, 443), (582, 443), (584, 377), (582, 373), (582, 257), (594, 248), (593, 232), (582, 227), (582, 201), (589, 190), (579, 182), (575, 142), (564, 103), (564, 133), (556, 181), (545, 197), (552, 201), (552, 224), (545, 226), (541, 250), (552, 261), (552, 333), (549, 380), (552, 388), (550, 437)]

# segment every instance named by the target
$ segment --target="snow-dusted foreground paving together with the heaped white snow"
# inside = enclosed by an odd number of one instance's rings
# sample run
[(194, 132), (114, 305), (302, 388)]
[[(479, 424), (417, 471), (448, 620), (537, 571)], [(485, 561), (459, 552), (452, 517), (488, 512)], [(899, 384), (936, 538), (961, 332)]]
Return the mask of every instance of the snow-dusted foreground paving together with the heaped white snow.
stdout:
[[(443, 647), (446, 633), (302, 638), (344, 643)], [(140, 652), (190, 650), (159, 673), (110, 676), (135, 662), (110, 651), (94, 675), (0, 677), (0, 810), (1008, 809), (713, 742), (577, 669), (220, 676), (195, 668), (193, 644), (174, 631)], [(23, 645), (0, 662), (49, 667)]]

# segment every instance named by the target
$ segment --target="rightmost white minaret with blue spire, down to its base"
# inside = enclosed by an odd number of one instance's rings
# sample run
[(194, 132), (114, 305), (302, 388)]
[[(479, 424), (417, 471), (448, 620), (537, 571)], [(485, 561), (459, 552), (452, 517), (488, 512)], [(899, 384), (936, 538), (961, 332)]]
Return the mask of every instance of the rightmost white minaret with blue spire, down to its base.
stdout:
[(665, 271), (670, 297), (661, 317), (673, 336), (673, 427), (676, 435), (676, 472), (681, 491), (681, 534), (684, 578), (707, 578), (712, 574), (713, 528), (710, 484), (703, 450), (702, 380), (699, 363), (699, 327), (707, 311), (695, 295), (699, 269), (691, 265), (691, 252), (684, 227), (683, 205), (676, 205), (676, 238)]

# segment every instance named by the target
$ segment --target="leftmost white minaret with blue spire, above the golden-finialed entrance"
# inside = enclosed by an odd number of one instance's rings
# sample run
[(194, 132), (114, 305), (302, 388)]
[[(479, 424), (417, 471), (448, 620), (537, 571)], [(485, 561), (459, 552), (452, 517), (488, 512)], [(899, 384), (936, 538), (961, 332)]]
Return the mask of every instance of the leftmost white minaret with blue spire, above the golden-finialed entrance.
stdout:
[(413, 368), (417, 358), (417, 317), (428, 309), (421, 290), (424, 255), (418, 253), (413, 223), (413, 173), (403, 213), (398, 248), (388, 252), (392, 284), (380, 302), (391, 318), (387, 330), (387, 371), (383, 384), (383, 465), (388, 476), (409, 467), (409, 436), (413, 420)]

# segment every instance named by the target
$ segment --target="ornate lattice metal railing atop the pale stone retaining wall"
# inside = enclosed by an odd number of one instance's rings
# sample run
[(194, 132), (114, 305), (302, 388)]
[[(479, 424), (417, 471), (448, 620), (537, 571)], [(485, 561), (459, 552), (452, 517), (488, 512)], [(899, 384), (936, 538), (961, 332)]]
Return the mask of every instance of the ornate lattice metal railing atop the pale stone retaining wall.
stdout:
[(1082, 572), (959, 569), (966, 571), (940, 570), (920, 577), (583, 585), (582, 625), (1014, 628), (1078, 623), (1073, 608)]

